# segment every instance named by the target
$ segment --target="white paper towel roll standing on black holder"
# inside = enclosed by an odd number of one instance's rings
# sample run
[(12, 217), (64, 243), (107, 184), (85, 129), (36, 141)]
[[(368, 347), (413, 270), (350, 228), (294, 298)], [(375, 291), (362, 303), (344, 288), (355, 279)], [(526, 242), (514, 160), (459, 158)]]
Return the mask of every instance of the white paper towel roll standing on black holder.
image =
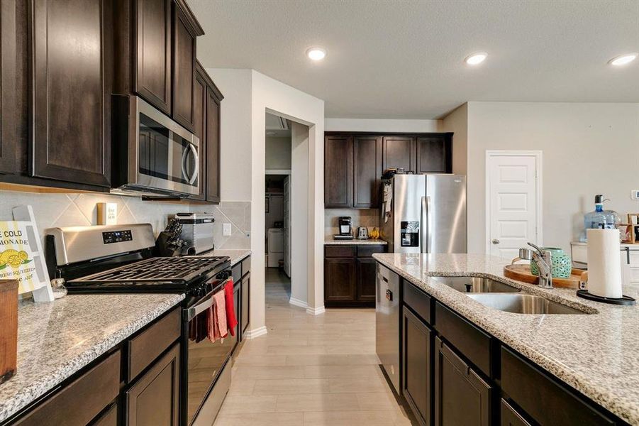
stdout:
[(618, 229), (588, 229), (588, 292), (621, 298), (621, 245)]

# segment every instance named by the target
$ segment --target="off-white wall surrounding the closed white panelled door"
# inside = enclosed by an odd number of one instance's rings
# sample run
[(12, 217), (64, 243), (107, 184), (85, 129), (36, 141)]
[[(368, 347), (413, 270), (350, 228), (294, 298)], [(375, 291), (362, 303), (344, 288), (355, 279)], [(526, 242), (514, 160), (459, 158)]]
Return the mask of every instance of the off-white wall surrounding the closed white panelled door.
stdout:
[(639, 104), (468, 103), (468, 249), (485, 251), (485, 152), (543, 151), (543, 244), (569, 249), (594, 195), (639, 212)]

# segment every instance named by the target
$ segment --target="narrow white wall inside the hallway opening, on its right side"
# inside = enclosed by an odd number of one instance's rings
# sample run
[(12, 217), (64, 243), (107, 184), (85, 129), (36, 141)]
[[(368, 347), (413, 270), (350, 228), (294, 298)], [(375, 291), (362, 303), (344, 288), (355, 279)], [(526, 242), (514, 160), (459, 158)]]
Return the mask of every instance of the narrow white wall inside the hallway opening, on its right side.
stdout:
[(291, 122), (291, 300), (309, 304), (309, 126)]

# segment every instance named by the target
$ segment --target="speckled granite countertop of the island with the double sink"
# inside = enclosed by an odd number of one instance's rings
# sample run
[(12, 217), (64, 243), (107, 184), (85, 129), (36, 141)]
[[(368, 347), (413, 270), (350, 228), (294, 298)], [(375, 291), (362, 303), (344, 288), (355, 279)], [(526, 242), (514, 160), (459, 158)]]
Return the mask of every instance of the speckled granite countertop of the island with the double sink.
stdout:
[[(639, 425), (639, 306), (584, 300), (505, 278), (509, 262), (472, 254), (376, 253), (374, 258), (623, 420)], [(432, 276), (509, 283), (592, 315), (521, 315), (486, 307)], [(639, 290), (623, 294), (638, 298)]]

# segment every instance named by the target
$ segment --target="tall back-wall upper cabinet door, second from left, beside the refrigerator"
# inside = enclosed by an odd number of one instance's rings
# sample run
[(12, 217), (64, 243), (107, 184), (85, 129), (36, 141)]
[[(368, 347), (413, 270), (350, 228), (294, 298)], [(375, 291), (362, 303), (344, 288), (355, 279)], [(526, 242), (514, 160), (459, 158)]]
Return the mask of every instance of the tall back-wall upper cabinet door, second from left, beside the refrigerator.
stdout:
[(382, 177), (382, 138), (354, 136), (353, 207), (379, 207), (379, 181)]

